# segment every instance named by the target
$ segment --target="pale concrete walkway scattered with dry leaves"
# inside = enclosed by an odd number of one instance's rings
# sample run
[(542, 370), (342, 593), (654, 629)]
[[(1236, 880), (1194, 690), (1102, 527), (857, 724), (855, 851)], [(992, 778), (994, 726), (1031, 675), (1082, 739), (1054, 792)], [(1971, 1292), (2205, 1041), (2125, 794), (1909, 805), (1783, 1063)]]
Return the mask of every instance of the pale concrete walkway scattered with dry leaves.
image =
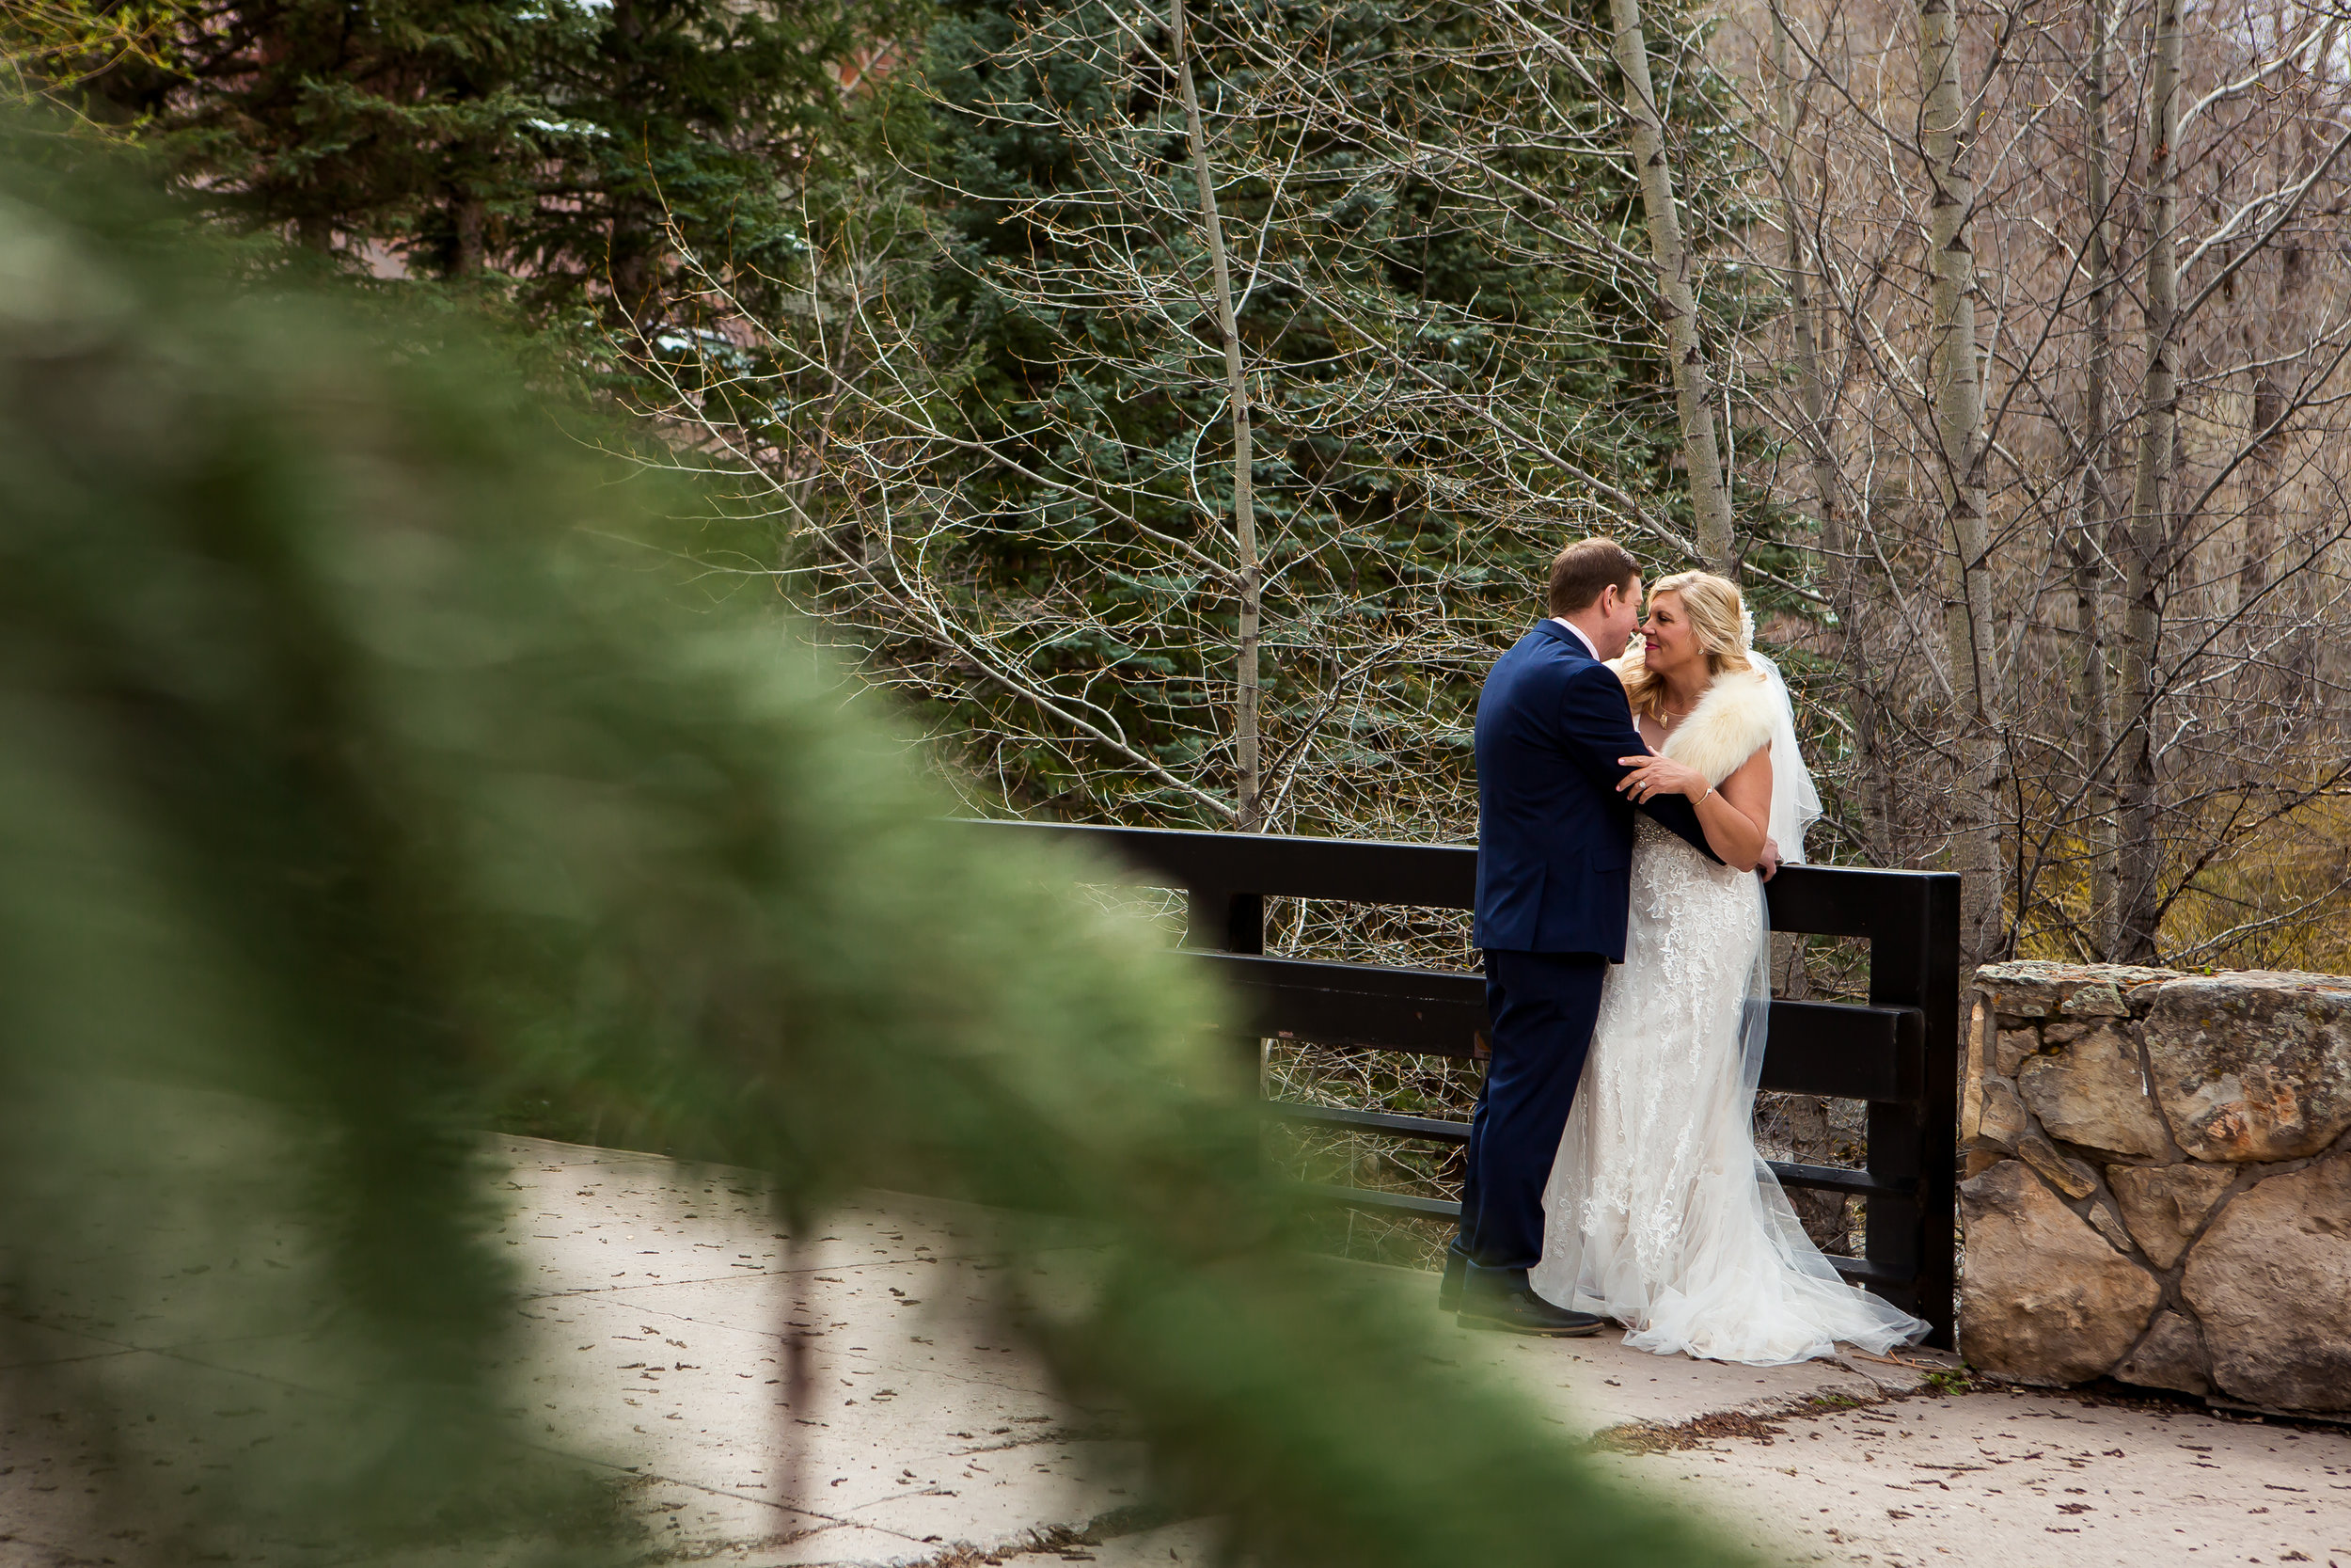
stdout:
[[(790, 1255), (752, 1178), (501, 1140), (505, 1244), (536, 1281), (527, 1378), (550, 1446), (604, 1467), (656, 1533), (651, 1561), (1213, 1561), (1213, 1528), (1157, 1523), (1138, 1450), (1063, 1403), (1011, 1342), (973, 1328), (1004, 1267), (987, 1215), (872, 1194)], [(1432, 1295), (1429, 1276), (1333, 1265), (1347, 1288)], [(802, 1509), (778, 1472), (783, 1352), (804, 1324)], [(54, 1354), (92, 1354), (54, 1335)], [(148, 1352), (141, 1352), (148, 1354)], [(1918, 1366), (1848, 1359), (1726, 1368), (1434, 1321), (1429, 1354), (1505, 1378), (1629, 1486), (1806, 1563), (2351, 1568), (2351, 1432), (2182, 1406), (1961, 1392)], [(266, 1347), (221, 1361), (268, 1382)], [(0, 1368), (0, 1375), (14, 1375)], [(56, 1439), (12, 1422), (0, 1566), (94, 1561), (33, 1486), (71, 1479)], [(26, 1479), (16, 1486), (16, 1479)], [(68, 1488), (78, 1490), (78, 1488)], [(1154, 1528), (1143, 1528), (1154, 1526)], [(1561, 1561), (1573, 1554), (1561, 1549)]]

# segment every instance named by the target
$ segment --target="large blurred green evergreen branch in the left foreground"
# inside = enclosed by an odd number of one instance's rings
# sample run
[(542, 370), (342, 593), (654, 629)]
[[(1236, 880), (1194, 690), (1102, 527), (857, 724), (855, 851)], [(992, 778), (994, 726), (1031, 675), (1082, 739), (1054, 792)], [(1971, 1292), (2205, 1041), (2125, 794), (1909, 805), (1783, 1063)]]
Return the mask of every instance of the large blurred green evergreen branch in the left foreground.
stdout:
[(1319, 1284), (1215, 997), (698, 597), (694, 494), (54, 150), (0, 158), (0, 1338), (47, 1363), (0, 1387), (71, 1413), (106, 1556), (635, 1552), (501, 1415), (473, 1128), (543, 1093), (788, 1222), (886, 1180), (1096, 1225), (1091, 1298), (999, 1309), (1255, 1561), (1726, 1561)]

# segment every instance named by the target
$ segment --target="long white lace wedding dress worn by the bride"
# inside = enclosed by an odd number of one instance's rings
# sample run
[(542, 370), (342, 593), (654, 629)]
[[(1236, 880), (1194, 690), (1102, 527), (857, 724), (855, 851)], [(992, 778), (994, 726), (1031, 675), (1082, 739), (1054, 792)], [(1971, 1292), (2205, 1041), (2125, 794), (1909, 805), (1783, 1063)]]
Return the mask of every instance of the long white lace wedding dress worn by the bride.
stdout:
[[(1770, 684), (1784, 715), (1775, 670)], [(1810, 792), (1794, 724), (1775, 717), (1775, 797)], [(1801, 846), (1803, 825), (1780, 820), (1782, 806), (1773, 837)], [(1928, 1324), (1836, 1276), (1756, 1154), (1763, 884), (1636, 820), (1625, 964), (1608, 971), (1545, 1190), (1535, 1291), (1625, 1324), (1627, 1345), (1712, 1361), (1780, 1366), (1834, 1354), (1838, 1340), (1886, 1354), (1921, 1338)]]

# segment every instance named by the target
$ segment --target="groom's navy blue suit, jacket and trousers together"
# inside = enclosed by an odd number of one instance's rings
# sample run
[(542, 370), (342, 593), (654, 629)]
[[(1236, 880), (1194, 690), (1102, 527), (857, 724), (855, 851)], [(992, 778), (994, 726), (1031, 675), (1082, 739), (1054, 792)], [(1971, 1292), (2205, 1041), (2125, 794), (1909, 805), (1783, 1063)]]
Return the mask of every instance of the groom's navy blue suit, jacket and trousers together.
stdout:
[[(1542, 1185), (1585, 1074), (1601, 978), (1625, 961), (1634, 806), (1617, 795), (1629, 771), (1617, 757), (1646, 750), (1615, 672), (1556, 621), (1486, 675), (1469, 940), (1486, 950), (1493, 1060), (1469, 1121), (1453, 1244), (1481, 1288), (1523, 1291), (1542, 1260)], [(1707, 849), (1681, 795), (1639, 809)]]

